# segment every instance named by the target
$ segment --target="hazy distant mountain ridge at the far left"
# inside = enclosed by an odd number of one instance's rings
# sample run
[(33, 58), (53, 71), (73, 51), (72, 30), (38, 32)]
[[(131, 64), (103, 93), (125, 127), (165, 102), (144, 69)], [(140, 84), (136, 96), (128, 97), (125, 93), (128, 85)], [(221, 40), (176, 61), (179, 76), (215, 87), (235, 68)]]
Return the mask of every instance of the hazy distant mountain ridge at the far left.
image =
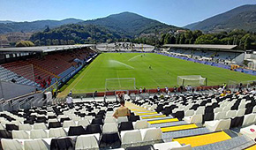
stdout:
[(12, 32), (32, 33), (44, 30), (46, 26), (54, 28), (66, 24), (76, 24), (83, 20), (81, 19), (64, 19), (64, 20), (37, 20), (33, 22), (0, 22), (0, 34), (7, 34)]

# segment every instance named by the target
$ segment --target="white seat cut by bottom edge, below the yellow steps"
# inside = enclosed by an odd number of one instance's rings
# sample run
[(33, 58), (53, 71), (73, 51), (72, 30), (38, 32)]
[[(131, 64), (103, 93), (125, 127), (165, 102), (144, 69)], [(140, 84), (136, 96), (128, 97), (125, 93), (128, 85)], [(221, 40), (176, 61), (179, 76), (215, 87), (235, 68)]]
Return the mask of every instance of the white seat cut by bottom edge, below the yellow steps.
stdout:
[(154, 149), (159, 149), (159, 150), (170, 150), (170, 149), (191, 150), (192, 146), (191, 145), (182, 146), (177, 141), (173, 141), (173, 142), (154, 144)]

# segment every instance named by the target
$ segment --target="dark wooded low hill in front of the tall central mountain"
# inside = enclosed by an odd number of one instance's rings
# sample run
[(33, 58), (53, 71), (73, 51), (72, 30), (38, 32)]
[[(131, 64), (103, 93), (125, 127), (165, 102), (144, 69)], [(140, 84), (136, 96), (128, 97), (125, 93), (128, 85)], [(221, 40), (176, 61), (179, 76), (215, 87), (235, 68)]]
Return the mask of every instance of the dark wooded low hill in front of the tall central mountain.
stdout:
[(34, 41), (36, 45), (66, 45), (92, 43), (94, 40), (105, 42), (122, 37), (124, 34), (104, 26), (69, 24), (32, 34), (30, 41)]

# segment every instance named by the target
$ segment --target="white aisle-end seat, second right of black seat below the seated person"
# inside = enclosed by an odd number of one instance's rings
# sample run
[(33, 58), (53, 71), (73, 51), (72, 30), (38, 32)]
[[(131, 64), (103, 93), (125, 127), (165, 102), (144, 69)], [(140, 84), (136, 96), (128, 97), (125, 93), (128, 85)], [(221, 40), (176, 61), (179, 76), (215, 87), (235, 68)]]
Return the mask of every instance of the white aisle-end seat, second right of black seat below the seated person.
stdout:
[(142, 141), (152, 141), (162, 139), (162, 130), (160, 128), (140, 129)]

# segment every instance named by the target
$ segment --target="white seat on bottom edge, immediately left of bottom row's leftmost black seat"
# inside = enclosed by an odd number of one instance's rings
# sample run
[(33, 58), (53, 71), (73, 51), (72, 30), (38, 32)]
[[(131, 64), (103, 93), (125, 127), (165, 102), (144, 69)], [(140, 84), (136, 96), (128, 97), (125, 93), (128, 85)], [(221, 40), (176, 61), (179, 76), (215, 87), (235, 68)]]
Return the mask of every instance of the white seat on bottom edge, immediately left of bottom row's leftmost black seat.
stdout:
[(25, 140), (24, 141), (24, 149), (33, 150), (33, 149), (49, 149), (49, 145), (42, 139), (33, 139), (33, 140)]

